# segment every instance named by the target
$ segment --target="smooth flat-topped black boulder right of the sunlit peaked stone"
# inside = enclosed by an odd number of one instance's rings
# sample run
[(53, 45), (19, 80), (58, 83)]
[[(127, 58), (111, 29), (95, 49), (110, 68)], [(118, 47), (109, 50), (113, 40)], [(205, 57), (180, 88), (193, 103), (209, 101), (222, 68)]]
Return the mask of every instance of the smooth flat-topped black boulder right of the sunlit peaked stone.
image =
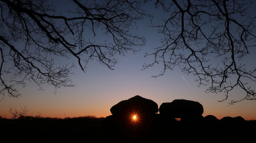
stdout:
[(173, 100), (170, 103), (162, 103), (159, 112), (175, 118), (200, 117), (204, 113), (204, 107), (199, 102), (191, 100)]

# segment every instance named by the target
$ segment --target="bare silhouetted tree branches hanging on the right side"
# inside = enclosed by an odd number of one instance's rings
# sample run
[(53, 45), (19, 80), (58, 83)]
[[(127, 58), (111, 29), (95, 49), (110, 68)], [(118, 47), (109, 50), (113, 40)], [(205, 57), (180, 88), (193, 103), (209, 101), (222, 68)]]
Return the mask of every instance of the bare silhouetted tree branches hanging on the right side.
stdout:
[[(145, 64), (144, 69), (163, 63), (166, 70), (179, 66), (184, 73), (196, 75), (199, 86), (209, 85), (207, 93), (228, 93), (234, 87), (246, 92), (239, 101), (256, 100), (255, 90), (248, 81), (255, 83), (255, 67), (246, 67), (242, 60), (255, 47), (255, 15), (248, 9), (254, 1), (237, 0), (158, 0), (170, 15), (163, 25), (157, 25), (164, 34), (162, 45), (154, 56), (154, 63)], [(220, 102), (222, 102), (221, 100)]]

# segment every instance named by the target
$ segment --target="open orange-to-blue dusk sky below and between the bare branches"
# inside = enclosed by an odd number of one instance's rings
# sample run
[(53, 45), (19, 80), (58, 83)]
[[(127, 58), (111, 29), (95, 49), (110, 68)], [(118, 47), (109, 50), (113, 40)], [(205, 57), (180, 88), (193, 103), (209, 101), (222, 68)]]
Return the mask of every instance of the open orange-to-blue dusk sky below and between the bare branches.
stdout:
[[(68, 7), (68, 3), (60, 3), (60, 8)], [(154, 8), (154, 7), (153, 7)], [(153, 10), (153, 9), (152, 9)], [(155, 10), (155, 9), (154, 9)], [(161, 20), (163, 13), (159, 10), (152, 11)], [(256, 101), (243, 101), (228, 106), (230, 100), (240, 100), (244, 92), (237, 88), (231, 91), (230, 98), (224, 102), (218, 102), (225, 98), (225, 93), (205, 93), (208, 86), (198, 87), (194, 75), (186, 75), (179, 67), (168, 70), (163, 76), (152, 78), (161, 72), (162, 66), (156, 65), (146, 70), (143, 64), (150, 63), (154, 57), (144, 57), (145, 52), (152, 52), (154, 47), (160, 45), (159, 40), (163, 35), (157, 33), (157, 29), (148, 27), (149, 19), (139, 22), (139, 30), (135, 32), (146, 36), (147, 43), (141, 47), (141, 51), (125, 56), (116, 56), (118, 64), (109, 70), (108, 67), (92, 61), (84, 73), (79, 66), (74, 68), (74, 75), (70, 76), (75, 87), (61, 87), (54, 93), (54, 87), (44, 85), (44, 91), (39, 91), (38, 86), (31, 82), (26, 87), (19, 87), (22, 96), (9, 98), (5, 96), (0, 102), (0, 116), (10, 118), (10, 109), (28, 109), (27, 116), (42, 117), (79, 117), (96, 116), (106, 117), (111, 115), (110, 108), (116, 103), (140, 95), (157, 103), (172, 102), (175, 99), (186, 99), (199, 102), (204, 107), (203, 116), (214, 115), (218, 119), (225, 116), (241, 116), (246, 120), (256, 119)], [(256, 50), (254, 50), (256, 52)], [(253, 50), (252, 50), (253, 53)], [(72, 61), (73, 59), (70, 59)], [(214, 59), (212, 59), (214, 60)], [(61, 61), (61, 59), (56, 59)], [(65, 61), (65, 62), (70, 62)], [(250, 66), (256, 66), (255, 57), (251, 54), (246, 57)], [(75, 59), (72, 63), (76, 63)], [(77, 63), (76, 63), (77, 64)], [(252, 83), (255, 87), (255, 83)]]

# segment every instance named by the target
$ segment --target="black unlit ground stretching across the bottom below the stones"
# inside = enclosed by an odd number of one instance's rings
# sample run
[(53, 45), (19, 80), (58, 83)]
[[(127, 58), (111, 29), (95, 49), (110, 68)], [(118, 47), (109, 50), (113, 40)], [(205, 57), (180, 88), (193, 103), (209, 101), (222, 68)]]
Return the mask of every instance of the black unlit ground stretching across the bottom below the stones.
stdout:
[(0, 119), (0, 142), (256, 142), (256, 121), (243, 126), (155, 124), (150, 132), (135, 138), (102, 121), (93, 117)]

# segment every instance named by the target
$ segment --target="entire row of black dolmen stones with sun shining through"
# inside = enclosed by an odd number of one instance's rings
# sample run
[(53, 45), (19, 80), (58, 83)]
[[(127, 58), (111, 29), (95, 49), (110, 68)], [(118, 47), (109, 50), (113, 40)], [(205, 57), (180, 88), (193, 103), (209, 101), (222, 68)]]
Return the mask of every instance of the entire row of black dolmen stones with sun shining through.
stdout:
[[(125, 136), (125, 139), (132, 137), (132, 141), (150, 139), (157, 135), (159, 129), (164, 130), (165, 133), (170, 128), (176, 128), (180, 130), (179, 132), (189, 135), (191, 133), (189, 130), (192, 129), (200, 130), (200, 132), (207, 131), (205, 139), (213, 138), (217, 132), (220, 132), (220, 128), (223, 132), (221, 135), (230, 129), (234, 131), (230, 135), (236, 133), (234, 129), (246, 130), (246, 120), (243, 117), (223, 117), (220, 120), (212, 115), (203, 117), (202, 104), (191, 100), (173, 100), (173, 102), (162, 103), (159, 107), (160, 114), (156, 114), (158, 112), (156, 102), (136, 95), (113, 105), (110, 111), (112, 115), (106, 117), (102, 124), (115, 129), (117, 131), (115, 133), (121, 137)], [(180, 121), (176, 121), (175, 118), (180, 118)], [(190, 129), (186, 130), (186, 127)], [(165, 134), (160, 133), (160, 135)], [(150, 141), (147, 140), (147, 142)]]

